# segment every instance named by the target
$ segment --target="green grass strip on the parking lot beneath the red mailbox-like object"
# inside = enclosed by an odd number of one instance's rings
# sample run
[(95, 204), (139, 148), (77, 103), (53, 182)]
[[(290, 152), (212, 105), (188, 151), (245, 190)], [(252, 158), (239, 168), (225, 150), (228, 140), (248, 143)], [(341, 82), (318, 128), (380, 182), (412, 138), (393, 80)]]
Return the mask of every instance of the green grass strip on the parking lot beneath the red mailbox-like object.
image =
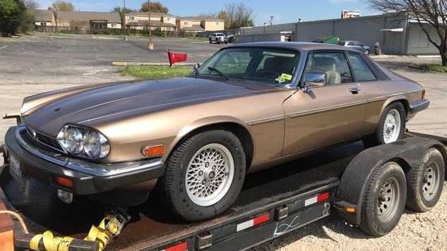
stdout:
[(182, 77), (192, 71), (191, 66), (124, 66), (119, 68), (117, 73), (136, 78), (157, 79)]

